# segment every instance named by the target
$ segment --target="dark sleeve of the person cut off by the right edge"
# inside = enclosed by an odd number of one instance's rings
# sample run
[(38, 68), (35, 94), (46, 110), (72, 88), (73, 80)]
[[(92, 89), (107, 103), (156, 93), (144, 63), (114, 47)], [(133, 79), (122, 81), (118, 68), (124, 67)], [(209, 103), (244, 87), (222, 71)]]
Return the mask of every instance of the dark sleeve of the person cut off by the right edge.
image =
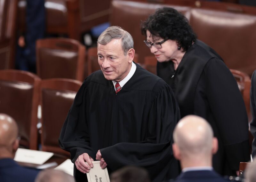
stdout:
[(252, 74), (252, 82), (251, 82), (251, 93), (250, 93), (250, 105), (251, 105), (251, 112), (252, 112), (252, 122), (250, 124), (250, 130), (254, 137), (252, 141), (252, 157), (256, 156), (256, 105), (255, 105), (255, 96), (256, 96), (256, 71)]

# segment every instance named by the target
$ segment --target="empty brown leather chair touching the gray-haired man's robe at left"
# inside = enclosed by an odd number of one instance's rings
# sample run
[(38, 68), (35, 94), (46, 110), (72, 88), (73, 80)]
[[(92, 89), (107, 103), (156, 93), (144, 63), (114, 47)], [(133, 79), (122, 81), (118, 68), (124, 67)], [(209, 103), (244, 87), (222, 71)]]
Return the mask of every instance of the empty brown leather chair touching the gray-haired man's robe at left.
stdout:
[(41, 144), (42, 150), (64, 154), (59, 146), (61, 127), (74, 101), (82, 82), (65, 78), (52, 78), (41, 81), (40, 105), (42, 108)]

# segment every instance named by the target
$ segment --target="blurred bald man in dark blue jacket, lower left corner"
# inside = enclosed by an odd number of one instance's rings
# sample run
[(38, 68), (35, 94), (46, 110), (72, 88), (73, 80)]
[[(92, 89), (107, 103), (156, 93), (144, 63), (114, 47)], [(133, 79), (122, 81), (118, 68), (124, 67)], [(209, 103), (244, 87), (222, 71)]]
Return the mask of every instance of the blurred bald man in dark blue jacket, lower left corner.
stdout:
[(0, 113), (0, 181), (34, 182), (39, 170), (21, 167), (13, 158), (19, 147), (18, 126), (13, 118)]

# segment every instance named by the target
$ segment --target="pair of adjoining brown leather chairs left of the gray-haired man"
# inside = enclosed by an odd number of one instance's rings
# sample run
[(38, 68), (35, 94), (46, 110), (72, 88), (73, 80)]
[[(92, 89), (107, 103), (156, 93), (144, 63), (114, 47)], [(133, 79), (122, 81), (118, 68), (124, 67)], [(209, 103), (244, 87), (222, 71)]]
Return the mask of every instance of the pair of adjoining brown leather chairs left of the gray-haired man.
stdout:
[[(81, 84), (66, 78), (41, 80), (27, 71), (0, 70), (0, 113), (16, 120), (22, 147), (38, 149), (37, 124), (40, 121), (42, 150), (69, 156), (60, 149), (58, 138)], [(37, 117), (39, 105), (41, 120)]]

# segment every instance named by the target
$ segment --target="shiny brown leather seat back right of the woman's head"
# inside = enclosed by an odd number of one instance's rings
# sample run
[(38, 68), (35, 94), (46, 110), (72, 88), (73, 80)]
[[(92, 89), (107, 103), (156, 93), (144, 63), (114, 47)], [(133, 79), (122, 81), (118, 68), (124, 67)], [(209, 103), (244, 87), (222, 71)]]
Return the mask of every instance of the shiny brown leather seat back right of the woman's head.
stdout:
[(203, 9), (191, 10), (189, 23), (202, 40), (212, 47), (229, 69), (252, 75), (256, 69), (256, 16)]

